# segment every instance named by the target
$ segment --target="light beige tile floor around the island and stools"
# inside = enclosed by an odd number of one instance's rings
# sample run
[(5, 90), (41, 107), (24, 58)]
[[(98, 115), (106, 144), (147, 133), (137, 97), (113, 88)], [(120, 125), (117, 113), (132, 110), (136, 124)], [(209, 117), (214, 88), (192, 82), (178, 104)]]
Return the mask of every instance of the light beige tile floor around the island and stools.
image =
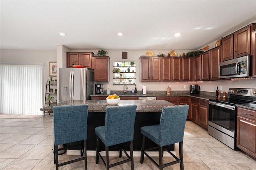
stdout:
[[(0, 169), (3, 170), (54, 170), (52, 153), (52, 115), (40, 119), (0, 119)], [(185, 170), (255, 170), (256, 161), (240, 151), (234, 151), (222, 144), (201, 127), (191, 121), (186, 122), (183, 142)], [(175, 145), (176, 154), (178, 145)], [(78, 156), (60, 155), (60, 161)], [(111, 157), (111, 161), (117, 158)], [(123, 158), (120, 158), (123, 159)], [(157, 157), (154, 157), (157, 161)], [(164, 157), (170, 161), (171, 157)], [(87, 157), (88, 170), (104, 170), (100, 161), (95, 163), (95, 156)], [(66, 166), (62, 170), (83, 169), (82, 161)], [(130, 163), (111, 168), (113, 170), (130, 169)], [(158, 168), (144, 158), (134, 157), (135, 170), (157, 170)], [(179, 164), (164, 169), (179, 170)]]

